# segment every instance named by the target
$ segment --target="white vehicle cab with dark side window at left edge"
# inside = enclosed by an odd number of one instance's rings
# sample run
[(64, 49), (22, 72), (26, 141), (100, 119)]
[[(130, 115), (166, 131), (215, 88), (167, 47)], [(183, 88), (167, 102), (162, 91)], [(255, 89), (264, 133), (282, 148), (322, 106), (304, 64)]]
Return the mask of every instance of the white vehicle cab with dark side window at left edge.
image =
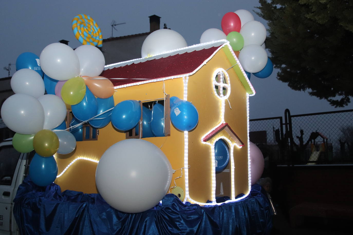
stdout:
[(0, 235), (19, 234), (13, 216), (13, 199), (28, 172), (30, 155), (16, 151), (12, 138), (0, 143)]

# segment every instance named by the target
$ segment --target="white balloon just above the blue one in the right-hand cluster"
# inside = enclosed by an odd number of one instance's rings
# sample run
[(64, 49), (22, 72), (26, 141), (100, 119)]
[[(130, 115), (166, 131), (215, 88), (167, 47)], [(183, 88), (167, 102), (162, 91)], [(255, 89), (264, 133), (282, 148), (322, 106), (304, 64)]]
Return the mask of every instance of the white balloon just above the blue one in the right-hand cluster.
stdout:
[(257, 73), (266, 66), (267, 52), (260, 45), (251, 44), (240, 50), (238, 59), (246, 72)]

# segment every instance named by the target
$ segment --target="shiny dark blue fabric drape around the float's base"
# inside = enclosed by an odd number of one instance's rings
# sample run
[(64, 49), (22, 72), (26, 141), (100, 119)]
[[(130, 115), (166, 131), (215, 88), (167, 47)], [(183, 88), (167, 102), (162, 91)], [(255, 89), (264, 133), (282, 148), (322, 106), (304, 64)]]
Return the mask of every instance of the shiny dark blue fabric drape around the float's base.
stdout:
[(199, 206), (167, 194), (162, 204), (136, 214), (109, 206), (100, 194), (85, 194), (29, 177), (18, 188), (14, 217), (25, 234), (269, 234), (272, 213), (263, 189), (253, 185), (238, 202)]

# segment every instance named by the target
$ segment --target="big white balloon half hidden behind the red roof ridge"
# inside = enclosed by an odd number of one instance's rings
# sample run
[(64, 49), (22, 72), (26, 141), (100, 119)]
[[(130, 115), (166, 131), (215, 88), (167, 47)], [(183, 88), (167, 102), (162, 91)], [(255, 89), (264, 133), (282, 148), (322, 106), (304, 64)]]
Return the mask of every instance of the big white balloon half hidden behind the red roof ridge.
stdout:
[(159, 29), (148, 35), (142, 44), (141, 56), (155, 56), (166, 51), (187, 47), (183, 36), (170, 29)]

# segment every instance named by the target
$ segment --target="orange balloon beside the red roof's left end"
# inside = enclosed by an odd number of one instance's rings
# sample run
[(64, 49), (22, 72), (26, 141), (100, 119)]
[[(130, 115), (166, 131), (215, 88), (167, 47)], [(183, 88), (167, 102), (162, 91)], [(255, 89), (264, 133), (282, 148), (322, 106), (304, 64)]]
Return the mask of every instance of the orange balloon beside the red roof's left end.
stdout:
[(89, 77), (82, 76), (85, 80), (86, 86), (89, 90), (98, 98), (107, 99), (114, 94), (114, 85), (113, 83), (104, 77)]

